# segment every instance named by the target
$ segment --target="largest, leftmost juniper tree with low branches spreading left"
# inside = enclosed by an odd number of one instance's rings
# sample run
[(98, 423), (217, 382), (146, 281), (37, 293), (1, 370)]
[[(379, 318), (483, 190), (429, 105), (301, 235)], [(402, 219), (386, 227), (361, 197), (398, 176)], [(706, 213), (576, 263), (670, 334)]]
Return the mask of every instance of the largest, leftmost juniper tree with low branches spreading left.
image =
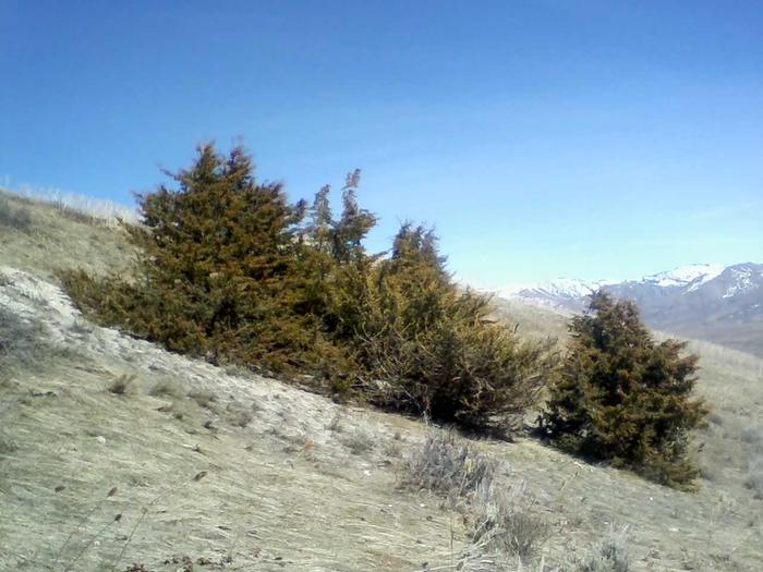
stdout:
[(138, 195), (143, 224), (129, 228), (142, 253), (137, 281), (112, 277), (99, 293), (82, 273), (64, 275), (73, 296), (173, 351), (299, 365), (315, 345), (294, 234), (303, 204), (290, 205), (280, 183), (257, 182), (240, 147), (223, 156), (204, 145), (190, 169), (167, 174), (175, 187)]

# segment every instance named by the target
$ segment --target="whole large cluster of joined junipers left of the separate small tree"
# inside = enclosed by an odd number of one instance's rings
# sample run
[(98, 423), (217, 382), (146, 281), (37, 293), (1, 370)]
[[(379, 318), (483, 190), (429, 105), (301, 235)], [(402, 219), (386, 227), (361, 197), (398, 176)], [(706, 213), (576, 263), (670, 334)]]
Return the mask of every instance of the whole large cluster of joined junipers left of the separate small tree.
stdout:
[(328, 186), (312, 208), (254, 179), (251, 158), (198, 149), (189, 170), (140, 196), (132, 281), (60, 278), (102, 324), (214, 363), (310, 373), (332, 392), (484, 425), (535, 398), (544, 349), (487, 320), (459, 292), (434, 233), (403, 224), (388, 257), (365, 252), (376, 217), (348, 175), (335, 219)]

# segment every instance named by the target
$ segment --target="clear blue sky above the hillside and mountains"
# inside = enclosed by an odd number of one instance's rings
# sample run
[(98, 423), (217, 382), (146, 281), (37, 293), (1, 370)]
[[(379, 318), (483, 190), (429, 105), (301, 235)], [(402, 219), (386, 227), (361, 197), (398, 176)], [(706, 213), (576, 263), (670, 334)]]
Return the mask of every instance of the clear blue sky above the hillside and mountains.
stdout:
[(239, 137), (479, 285), (763, 261), (763, 3), (0, 0), (0, 181), (131, 203)]

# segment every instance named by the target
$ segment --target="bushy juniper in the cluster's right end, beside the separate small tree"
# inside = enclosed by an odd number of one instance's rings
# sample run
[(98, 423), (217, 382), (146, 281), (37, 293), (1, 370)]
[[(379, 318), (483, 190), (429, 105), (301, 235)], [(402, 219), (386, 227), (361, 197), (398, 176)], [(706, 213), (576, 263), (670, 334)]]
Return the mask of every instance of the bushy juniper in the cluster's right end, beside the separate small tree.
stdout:
[(379, 405), (484, 427), (521, 417), (543, 386), (549, 345), (493, 324), (489, 299), (456, 288), (422, 227), (404, 224), (388, 259), (341, 268), (330, 293), (335, 339)]

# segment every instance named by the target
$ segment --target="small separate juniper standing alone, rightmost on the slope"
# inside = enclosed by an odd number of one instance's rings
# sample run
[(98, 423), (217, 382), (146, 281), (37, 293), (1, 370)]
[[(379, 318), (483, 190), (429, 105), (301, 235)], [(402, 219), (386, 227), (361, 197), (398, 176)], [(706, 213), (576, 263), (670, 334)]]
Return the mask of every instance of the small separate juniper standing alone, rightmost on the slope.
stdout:
[(604, 292), (572, 318), (570, 333), (541, 418), (546, 435), (562, 449), (690, 487), (698, 471), (687, 459), (689, 431), (707, 413), (691, 399), (698, 357), (681, 355), (685, 342), (656, 343), (635, 304)]

